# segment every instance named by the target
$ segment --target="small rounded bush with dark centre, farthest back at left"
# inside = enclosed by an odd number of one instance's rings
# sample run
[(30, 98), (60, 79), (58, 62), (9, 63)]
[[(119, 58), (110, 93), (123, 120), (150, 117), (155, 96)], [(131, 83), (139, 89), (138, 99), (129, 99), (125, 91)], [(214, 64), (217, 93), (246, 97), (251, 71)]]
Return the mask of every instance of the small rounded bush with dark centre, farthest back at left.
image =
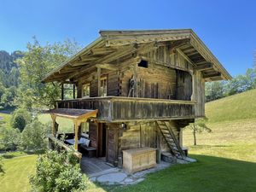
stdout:
[(26, 124), (30, 123), (32, 120), (32, 115), (26, 109), (24, 108), (18, 108), (13, 113), (12, 119), (11, 119), (11, 125), (14, 128), (19, 129), (20, 131), (23, 131)]

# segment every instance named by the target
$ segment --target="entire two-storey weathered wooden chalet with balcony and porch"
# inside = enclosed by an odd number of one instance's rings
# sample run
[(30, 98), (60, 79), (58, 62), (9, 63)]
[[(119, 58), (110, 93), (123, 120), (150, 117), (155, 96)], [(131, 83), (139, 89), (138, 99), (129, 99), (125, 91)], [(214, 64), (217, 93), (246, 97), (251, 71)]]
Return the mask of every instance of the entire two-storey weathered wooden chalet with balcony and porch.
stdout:
[[(183, 127), (205, 116), (205, 82), (230, 74), (190, 29), (100, 35), (44, 78), (62, 84), (62, 100), (49, 111), (51, 139), (61, 116), (73, 120), (76, 150), (85, 136), (85, 151), (115, 166), (127, 164), (127, 149), (183, 159)], [(63, 84), (73, 84), (73, 99), (64, 100)]]

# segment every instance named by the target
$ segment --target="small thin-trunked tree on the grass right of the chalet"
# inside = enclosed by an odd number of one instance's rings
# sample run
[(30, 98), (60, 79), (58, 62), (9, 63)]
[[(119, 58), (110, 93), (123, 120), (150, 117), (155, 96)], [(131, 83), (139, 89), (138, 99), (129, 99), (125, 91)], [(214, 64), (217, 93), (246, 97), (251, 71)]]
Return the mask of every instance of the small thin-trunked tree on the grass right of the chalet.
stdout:
[(187, 128), (192, 130), (194, 137), (194, 145), (196, 145), (196, 133), (201, 133), (203, 131), (212, 132), (212, 130), (206, 125), (207, 118), (204, 119), (195, 119), (195, 123), (189, 124)]

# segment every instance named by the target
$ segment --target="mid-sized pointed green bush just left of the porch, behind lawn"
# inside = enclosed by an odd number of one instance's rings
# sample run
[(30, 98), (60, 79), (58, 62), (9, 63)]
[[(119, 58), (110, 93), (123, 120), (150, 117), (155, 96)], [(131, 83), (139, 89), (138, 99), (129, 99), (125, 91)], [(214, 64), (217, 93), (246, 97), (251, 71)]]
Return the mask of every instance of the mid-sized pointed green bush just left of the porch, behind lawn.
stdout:
[(48, 126), (38, 121), (38, 118), (35, 118), (21, 132), (20, 148), (32, 151), (45, 150), (47, 148), (48, 134)]

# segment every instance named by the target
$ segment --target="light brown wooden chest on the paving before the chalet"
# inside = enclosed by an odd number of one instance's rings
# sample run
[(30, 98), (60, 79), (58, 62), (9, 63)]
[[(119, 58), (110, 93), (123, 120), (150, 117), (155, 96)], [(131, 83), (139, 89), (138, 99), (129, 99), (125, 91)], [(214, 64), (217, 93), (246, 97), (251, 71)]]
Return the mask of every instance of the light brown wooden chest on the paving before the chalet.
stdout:
[(155, 165), (155, 148), (133, 148), (123, 151), (123, 168), (127, 172), (139, 172)]

